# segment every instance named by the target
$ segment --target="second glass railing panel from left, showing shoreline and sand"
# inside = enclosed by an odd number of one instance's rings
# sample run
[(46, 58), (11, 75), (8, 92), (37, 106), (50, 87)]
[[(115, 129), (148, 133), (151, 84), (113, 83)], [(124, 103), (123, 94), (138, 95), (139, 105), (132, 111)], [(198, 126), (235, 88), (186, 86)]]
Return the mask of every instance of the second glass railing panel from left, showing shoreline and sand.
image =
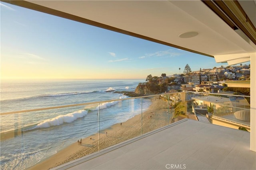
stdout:
[(150, 100), (143, 100), (141, 106), (140, 98), (101, 103), (99, 149), (140, 136), (141, 107), (149, 105)]

